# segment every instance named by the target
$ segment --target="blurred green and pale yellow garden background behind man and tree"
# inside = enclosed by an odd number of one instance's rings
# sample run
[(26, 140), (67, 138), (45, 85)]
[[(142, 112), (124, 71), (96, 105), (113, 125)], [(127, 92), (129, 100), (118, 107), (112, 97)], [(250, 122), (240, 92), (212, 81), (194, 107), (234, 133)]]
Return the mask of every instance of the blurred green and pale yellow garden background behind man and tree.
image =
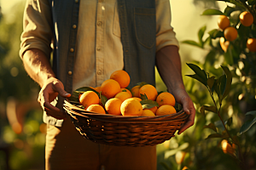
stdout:
[[(46, 125), (43, 123), (37, 98), (39, 87), (27, 76), (19, 57), (20, 34), (25, 0), (0, 0), (0, 170), (44, 169), (44, 140)], [(207, 31), (218, 28), (218, 16), (202, 16), (206, 8), (224, 10), (224, 2), (213, 0), (171, 0), (172, 26), (180, 43), (183, 62), (183, 81), (190, 97), (195, 102), (195, 125), (189, 130), (157, 146), (158, 169), (241, 169), (234, 157), (225, 154), (220, 139), (207, 139), (211, 133), (203, 127), (217, 118), (209, 113), (200, 113), (201, 105), (211, 104), (207, 89), (185, 75), (193, 74), (186, 63), (204, 65), (207, 48), (196, 48), (183, 43), (197, 40), (198, 31), (207, 26)], [(212, 65), (218, 68), (219, 64)], [(166, 90), (159, 75), (156, 75), (158, 91)], [(234, 116), (236, 122), (231, 130), (241, 127), (241, 108), (237, 107), (238, 95), (226, 105), (226, 115)], [(231, 101), (231, 99), (230, 99)], [(253, 100), (254, 102), (254, 100)], [(226, 102), (228, 103), (228, 102)], [(233, 107), (235, 105), (236, 107)], [(244, 112), (243, 112), (244, 114)], [(247, 167), (255, 169), (255, 126), (243, 137), (243, 150), (247, 150)], [(249, 139), (249, 140), (246, 140)]]

